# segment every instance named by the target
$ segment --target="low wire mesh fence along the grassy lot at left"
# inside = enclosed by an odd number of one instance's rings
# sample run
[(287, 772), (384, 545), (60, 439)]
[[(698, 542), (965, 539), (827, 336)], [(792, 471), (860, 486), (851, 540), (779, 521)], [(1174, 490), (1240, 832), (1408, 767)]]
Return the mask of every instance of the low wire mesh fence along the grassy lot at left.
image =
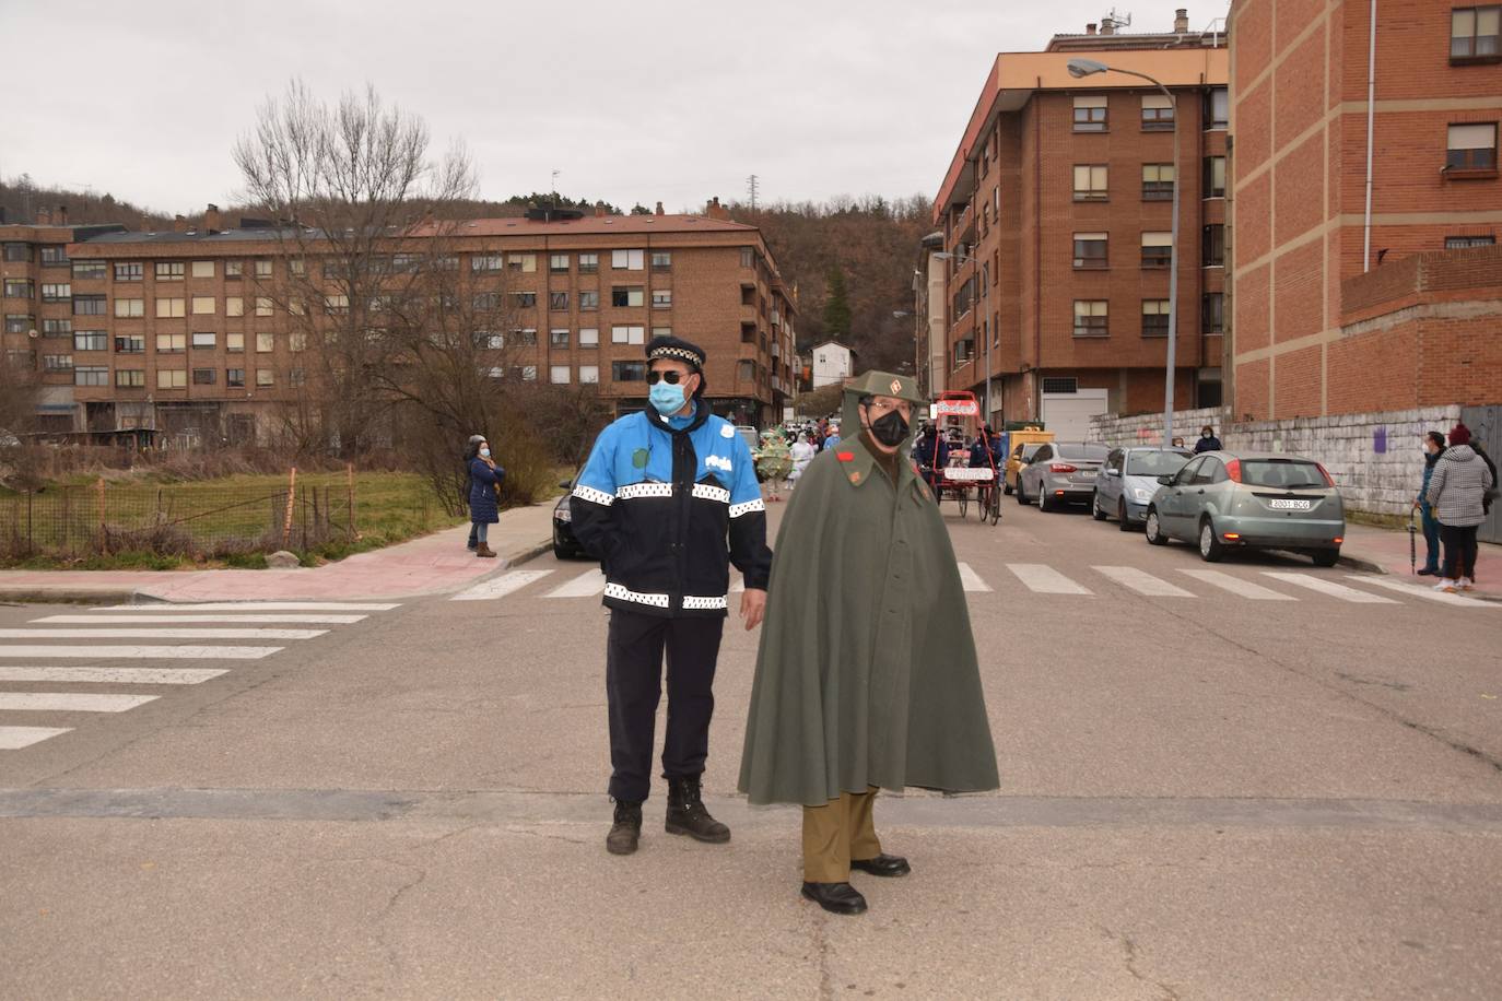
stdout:
[(228, 557), (356, 537), (354, 477), (248, 492), (222, 485), (56, 486), (0, 498), (0, 558), (120, 552)]

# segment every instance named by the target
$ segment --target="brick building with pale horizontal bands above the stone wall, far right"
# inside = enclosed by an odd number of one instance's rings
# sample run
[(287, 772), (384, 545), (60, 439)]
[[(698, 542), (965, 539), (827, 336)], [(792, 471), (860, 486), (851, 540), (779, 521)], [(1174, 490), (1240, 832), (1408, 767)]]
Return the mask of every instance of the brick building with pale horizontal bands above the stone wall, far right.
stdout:
[(1502, 401), (1502, 6), (1371, 8), (1230, 9), (1239, 419)]

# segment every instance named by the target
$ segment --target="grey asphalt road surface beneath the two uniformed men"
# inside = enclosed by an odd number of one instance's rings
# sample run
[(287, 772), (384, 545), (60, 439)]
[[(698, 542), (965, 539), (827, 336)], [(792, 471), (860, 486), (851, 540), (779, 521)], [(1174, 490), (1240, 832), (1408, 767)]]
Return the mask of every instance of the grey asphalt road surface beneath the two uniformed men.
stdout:
[[(858, 873), (859, 918), (799, 899), (796, 810), (733, 795), (734, 617), (731, 843), (664, 834), (655, 792), (605, 854), (586, 563), (389, 609), (0, 608), (0, 737), (66, 731), (0, 750), (0, 996), (1496, 996), (1502, 605), (1211, 567), (1083, 510), (946, 516), (1003, 788), (883, 795), (913, 875)], [(183, 614), (359, 618), (153, 621)], [(15, 698), (56, 695), (155, 698)]]

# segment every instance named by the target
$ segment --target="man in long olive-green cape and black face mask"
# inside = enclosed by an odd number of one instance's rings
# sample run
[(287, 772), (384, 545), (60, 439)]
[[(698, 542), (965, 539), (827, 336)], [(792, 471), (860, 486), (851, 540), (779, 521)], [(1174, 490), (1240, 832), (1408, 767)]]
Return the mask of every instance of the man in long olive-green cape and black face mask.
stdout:
[(810, 462), (772, 561), (740, 791), (802, 804), (802, 893), (835, 914), (865, 911), (850, 869), (910, 872), (882, 852), (879, 788), (999, 785), (960, 569), (907, 458), (924, 402), (891, 372), (846, 386), (850, 437)]

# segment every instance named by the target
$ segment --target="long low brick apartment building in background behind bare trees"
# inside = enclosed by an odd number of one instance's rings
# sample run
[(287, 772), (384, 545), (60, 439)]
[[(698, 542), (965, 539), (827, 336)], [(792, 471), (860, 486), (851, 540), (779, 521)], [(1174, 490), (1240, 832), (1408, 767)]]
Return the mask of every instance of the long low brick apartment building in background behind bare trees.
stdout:
[[(272, 290), (317, 264), (245, 222), (221, 228), (210, 206), (162, 233), (0, 228), (5, 347), (41, 371), (45, 431), (249, 441), (306, 392), (306, 324)], [(716, 413), (762, 425), (790, 402), (796, 306), (760, 231), (718, 200), (475, 219), (445, 239), (460, 288), (508, 297), (511, 329), (475, 332), (496, 378), (596, 384), (617, 413), (640, 408), (643, 345), (676, 333), (707, 350)]]

